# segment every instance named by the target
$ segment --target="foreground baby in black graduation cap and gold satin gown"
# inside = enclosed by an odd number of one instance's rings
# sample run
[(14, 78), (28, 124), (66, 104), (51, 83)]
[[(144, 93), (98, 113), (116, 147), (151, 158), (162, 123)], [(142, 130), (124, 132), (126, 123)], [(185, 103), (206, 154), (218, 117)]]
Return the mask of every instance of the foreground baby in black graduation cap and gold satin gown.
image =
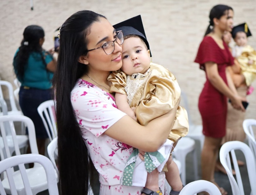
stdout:
[[(150, 62), (151, 53), (140, 15), (113, 27), (116, 30), (123, 31), (125, 41), (122, 45), (123, 65), (121, 70), (113, 72), (108, 77), (108, 80), (112, 82), (110, 90), (115, 92), (118, 109), (134, 118), (141, 125), (147, 125), (152, 119), (169, 112), (175, 107), (180, 99), (181, 90), (171, 72), (158, 64)], [(135, 113), (133, 110), (135, 110)], [(171, 140), (171, 145), (175, 146), (177, 140), (188, 133), (188, 128), (187, 112), (183, 107), (178, 106), (174, 125), (167, 141), (170, 143)], [(166, 143), (168, 143), (167, 141)], [(160, 156), (164, 156), (162, 154), (166, 151), (162, 147), (155, 153), (146, 152), (145, 168), (148, 172), (155, 168), (158, 168), (158, 171), (166, 171), (166, 180), (172, 187), (170, 195), (176, 195), (179, 194), (183, 185), (177, 165), (172, 161), (171, 150), (172, 147), (166, 157), (167, 162), (160, 158)], [(133, 167), (137, 165), (138, 153), (138, 150), (135, 149), (128, 159), (123, 174), (123, 185), (127, 185), (125, 184), (125, 172), (128, 170), (129, 173), (131, 170), (134, 171), (131, 185), (137, 185), (134, 182), (136, 169)], [(162, 165), (162, 162), (165, 165)], [(159, 168), (159, 164), (162, 165), (161, 168)], [(153, 170), (152, 167), (154, 167)], [(142, 192), (150, 194), (149, 191), (144, 188)]]

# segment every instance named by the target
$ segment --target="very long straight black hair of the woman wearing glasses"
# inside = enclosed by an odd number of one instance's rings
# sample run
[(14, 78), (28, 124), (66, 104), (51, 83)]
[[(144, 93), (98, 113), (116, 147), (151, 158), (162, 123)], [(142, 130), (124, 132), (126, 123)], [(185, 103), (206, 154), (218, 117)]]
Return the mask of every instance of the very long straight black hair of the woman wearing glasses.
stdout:
[(92, 11), (79, 11), (70, 16), (60, 29), (60, 49), (57, 69), (53, 78), (56, 96), (58, 131), (59, 191), (61, 195), (86, 195), (88, 193), (88, 150), (84, 144), (79, 124), (71, 104), (70, 94), (77, 81), (87, 71), (78, 62), (87, 54), (86, 36), (93, 22), (104, 16)]

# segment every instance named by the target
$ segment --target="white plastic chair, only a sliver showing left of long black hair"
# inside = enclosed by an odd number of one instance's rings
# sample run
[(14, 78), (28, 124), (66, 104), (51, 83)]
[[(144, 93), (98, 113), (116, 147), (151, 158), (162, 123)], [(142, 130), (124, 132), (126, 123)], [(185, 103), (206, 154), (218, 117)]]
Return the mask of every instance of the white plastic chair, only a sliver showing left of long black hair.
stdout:
[[(58, 147), (57, 147), (57, 137), (56, 138), (53, 138), (53, 140), (48, 144), (47, 146), (47, 152), (48, 152), (48, 155), (49, 155), (49, 158), (55, 168), (55, 171), (58, 173), (58, 167), (56, 166), (56, 159), (57, 159), (57, 156), (58, 156)], [(58, 181), (58, 178), (57, 178), (57, 181)], [(90, 190), (88, 192), (88, 195), (93, 195), (93, 192), (92, 192), (92, 189), (90, 187)]]

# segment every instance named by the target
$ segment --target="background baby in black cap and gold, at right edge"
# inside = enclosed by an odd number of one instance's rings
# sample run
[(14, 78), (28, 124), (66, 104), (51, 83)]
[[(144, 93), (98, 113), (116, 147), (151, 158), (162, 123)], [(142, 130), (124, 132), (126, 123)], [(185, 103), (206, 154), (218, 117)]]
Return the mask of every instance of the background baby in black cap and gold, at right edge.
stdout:
[(246, 23), (235, 26), (231, 33), (236, 42), (232, 55), (239, 62), (246, 85), (249, 87), (256, 78), (256, 51), (247, 45), (247, 37), (252, 34)]

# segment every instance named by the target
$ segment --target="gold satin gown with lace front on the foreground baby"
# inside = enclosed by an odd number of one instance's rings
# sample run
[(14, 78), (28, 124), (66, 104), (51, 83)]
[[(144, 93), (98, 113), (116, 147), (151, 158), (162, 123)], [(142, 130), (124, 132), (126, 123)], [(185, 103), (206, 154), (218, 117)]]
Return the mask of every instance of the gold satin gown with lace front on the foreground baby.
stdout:
[[(181, 89), (174, 75), (161, 65), (150, 63), (145, 77), (132, 79), (121, 70), (108, 77), (112, 82), (110, 92), (127, 95), (130, 107), (136, 107), (137, 122), (143, 126), (154, 118), (171, 111), (177, 104)], [(135, 91), (136, 90), (136, 91)], [(176, 142), (189, 131), (187, 111), (178, 106), (168, 139)]]

